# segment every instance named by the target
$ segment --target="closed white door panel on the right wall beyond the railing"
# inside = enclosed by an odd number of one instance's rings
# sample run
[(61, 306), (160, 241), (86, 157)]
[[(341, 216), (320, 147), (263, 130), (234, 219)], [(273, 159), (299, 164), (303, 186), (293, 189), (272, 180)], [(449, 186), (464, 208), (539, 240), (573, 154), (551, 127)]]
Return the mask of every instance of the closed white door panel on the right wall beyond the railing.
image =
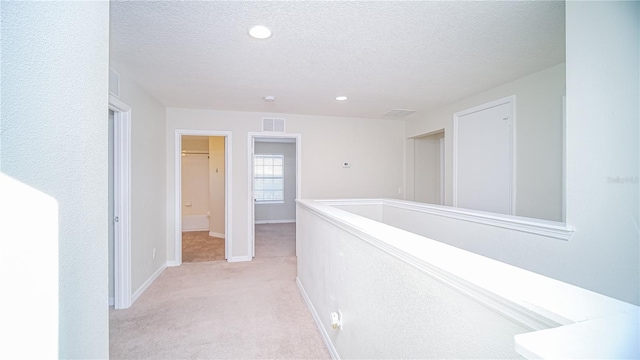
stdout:
[(514, 214), (513, 101), (501, 100), (455, 115), (454, 206)]

